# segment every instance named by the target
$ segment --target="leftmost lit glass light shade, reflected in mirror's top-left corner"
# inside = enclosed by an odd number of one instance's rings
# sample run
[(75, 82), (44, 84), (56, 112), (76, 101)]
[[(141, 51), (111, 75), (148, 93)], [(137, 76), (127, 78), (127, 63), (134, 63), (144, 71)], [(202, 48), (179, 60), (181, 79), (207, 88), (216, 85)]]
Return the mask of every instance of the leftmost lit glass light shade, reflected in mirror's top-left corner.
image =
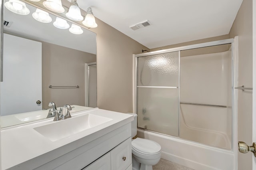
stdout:
[(26, 7), (26, 4), (20, 0), (9, 0), (8, 2), (4, 3), (4, 6), (8, 10), (20, 15), (28, 15), (30, 12)]

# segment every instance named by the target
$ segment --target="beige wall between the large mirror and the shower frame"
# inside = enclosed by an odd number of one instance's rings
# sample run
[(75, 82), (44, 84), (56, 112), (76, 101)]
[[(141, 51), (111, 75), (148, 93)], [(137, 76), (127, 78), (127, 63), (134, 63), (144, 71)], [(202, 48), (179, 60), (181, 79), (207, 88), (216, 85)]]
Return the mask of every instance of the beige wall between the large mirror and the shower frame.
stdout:
[(96, 19), (97, 105), (100, 109), (132, 112), (132, 54), (148, 49)]

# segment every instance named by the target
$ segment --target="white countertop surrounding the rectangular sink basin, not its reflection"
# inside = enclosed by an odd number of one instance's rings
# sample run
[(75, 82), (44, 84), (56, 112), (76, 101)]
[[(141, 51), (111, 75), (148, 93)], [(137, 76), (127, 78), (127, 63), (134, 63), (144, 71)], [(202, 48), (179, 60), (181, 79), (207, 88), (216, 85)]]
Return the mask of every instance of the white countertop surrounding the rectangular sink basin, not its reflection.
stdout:
[[(107, 117), (112, 120), (56, 141), (51, 141), (34, 130), (35, 127), (56, 123), (53, 121), (53, 118), (2, 128), (2, 169), (5, 170), (7, 168), (11, 168), (12, 166), (26, 162), (40, 155), (46, 154), (47, 152), (52, 152), (51, 159), (58, 158), (59, 156), (62, 156), (63, 154), (68, 153), (88, 142), (91, 142), (92, 140), (95, 140), (96, 138), (99, 138), (100, 136), (103, 136), (116, 128), (130, 123), (134, 119), (133, 115), (98, 108), (72, 113), (71, 115), (72, 118), (74, 118), (86, 114)], [(59, 132), (61, 133), (62, 130), (64, 129), (60, 128)], [(66, 145), (66, 147), (62, 147), (64, 145)], [(60, 147), (62, 147), (61, 150), (57, 150)]]

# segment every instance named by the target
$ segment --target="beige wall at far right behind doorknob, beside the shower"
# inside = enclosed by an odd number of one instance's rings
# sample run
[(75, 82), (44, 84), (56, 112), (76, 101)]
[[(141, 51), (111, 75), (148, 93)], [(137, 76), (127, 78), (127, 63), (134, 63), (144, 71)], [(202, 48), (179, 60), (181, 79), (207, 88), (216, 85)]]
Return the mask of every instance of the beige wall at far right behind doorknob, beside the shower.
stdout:
[[(238, 41), (238, 86), (252, 87), (252, 0), (244, 0), (233, 26), (230, 38)], [(238, 141), (252, 144), (252, 91), (238, 90)], [(238, 170), (252, 169), (252, 154), (238, 152)]]

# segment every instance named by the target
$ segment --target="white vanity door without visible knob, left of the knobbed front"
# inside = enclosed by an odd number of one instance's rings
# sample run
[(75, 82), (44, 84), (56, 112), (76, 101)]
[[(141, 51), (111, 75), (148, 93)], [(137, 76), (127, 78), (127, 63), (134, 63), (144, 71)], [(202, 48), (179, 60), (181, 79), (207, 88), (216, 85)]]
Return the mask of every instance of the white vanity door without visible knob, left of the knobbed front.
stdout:
[(82, 170), (111, 170), (110, 152), (94, 161)]

